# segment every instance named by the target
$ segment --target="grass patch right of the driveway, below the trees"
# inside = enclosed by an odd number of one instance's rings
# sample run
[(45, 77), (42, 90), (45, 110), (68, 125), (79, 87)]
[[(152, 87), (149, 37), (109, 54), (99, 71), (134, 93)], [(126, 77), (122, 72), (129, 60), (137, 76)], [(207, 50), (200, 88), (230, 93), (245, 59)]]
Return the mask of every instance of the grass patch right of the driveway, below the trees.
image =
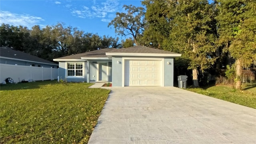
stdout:
[(226, 85), (211, 86), (209, 88), (188, 88), (187, 90), (243, 106), (256, 108), (256, 84), (244, 86), (242, 91)]

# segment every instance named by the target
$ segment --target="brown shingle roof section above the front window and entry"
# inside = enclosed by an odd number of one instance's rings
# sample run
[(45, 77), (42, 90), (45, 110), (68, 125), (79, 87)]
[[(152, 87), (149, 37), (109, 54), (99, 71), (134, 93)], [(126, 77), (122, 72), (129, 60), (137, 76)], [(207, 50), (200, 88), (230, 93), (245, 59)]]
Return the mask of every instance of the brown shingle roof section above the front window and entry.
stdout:
[(81, 54), (74, 54), (74, 55), (70, 55), (70, 56), (64, 56), (61, 58), (56, 58), (55, 60), (61, 60), (61, 59), (81, 59), (82, 57), (90, 57), (90, 58), (106, 58), (106, 52), (112, 52), (112, 51), (116, 51), (116, 48), (103, 48), (100, 50), (94, 50), (94, 51), (90, 51), (90, 52), (84, 52)]

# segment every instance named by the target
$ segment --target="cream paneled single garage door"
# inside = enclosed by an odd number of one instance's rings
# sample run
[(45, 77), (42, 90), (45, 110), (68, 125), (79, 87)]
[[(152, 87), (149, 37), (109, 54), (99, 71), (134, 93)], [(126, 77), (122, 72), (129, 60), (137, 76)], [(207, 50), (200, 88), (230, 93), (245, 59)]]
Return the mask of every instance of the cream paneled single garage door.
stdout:
[(124, 86), (161, 86), (160, 60), (126, 60)]

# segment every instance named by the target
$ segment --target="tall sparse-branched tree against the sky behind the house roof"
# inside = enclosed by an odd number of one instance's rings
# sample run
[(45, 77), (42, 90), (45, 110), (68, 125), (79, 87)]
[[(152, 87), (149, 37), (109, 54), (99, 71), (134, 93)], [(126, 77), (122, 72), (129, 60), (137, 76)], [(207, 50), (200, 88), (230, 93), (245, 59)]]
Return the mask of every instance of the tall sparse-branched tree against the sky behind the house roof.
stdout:
[(144, 8), (132, 5), (124, 5), (123, 8), (127, 12), (116, 12), (116, 18), (108, 24), (108, 27), (113, 25), (118, 35), (132, 35), (137, 46), (144, 31)]

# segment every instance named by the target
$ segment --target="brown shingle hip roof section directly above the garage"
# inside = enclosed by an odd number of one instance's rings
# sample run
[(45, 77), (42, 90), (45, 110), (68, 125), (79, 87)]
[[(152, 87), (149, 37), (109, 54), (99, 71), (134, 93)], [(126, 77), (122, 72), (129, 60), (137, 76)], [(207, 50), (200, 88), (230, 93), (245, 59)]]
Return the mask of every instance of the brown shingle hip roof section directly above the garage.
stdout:
[(178, 54), (175, 52), (170, 52), (166, 50), (159, 50), (156, 48), (150, 48), (147, 46), (133, 46), (129, 48), (121, 48), (114, 53), (139, 53), (139, 54)]

